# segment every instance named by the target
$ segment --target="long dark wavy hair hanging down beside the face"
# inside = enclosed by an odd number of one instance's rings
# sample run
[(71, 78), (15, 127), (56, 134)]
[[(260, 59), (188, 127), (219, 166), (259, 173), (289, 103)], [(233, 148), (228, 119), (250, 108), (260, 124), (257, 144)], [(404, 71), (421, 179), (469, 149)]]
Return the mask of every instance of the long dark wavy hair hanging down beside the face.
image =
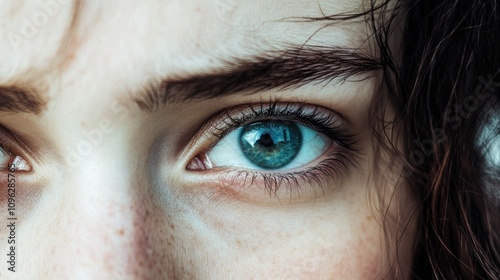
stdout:
[[(373, 114), (380, 119), (384, 100), (394, 108), (404, 150), (389, 134), (378, 139), (420, 204), (412, 276), (500, 279), (499, 2), (389, 2), (371, 10), (387, 88)], [(401, 16), (398, 60), (388, 46)]]

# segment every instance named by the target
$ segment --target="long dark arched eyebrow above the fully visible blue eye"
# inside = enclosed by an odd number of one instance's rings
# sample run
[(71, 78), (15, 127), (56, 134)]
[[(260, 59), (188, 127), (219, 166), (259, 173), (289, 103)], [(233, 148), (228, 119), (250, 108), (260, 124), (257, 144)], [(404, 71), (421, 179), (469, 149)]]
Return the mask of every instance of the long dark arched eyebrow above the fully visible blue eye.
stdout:
[(382, 68), (358, 49), (324, 46), (290, 47), (249, 59), (225, 60), (208, 74), (149, 81), (135, 102), (152, 112), (167, 103), (211, 99), (243, 92), (298, 88), (311, 82), (331, 82)]

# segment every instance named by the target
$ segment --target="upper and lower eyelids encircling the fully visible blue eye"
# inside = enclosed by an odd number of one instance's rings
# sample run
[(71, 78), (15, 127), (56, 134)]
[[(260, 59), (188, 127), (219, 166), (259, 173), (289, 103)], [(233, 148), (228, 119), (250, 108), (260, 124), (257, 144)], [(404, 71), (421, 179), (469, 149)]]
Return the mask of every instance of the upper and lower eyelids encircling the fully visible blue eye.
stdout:
[[(253, 170), (233, 166), (190, 168), (193, 160), (209, 161), (207, 154), (228, 133), (247, 124), (272, 119), (308, 126), (330, 138), (332, 144), (316, 160), (293, 169)], [(264, 190), (278, 200), (286, 194), (290, 195), (290, 201), (295, 198), (303, 201), (304, 197), (311, 198), (311, 195), (324, 196), (327, 190), (337, 189), (350, 173), (350, 168), (357, 166), (360, 139), (359, 134), (353, 133), (351, 128), (340, 114), (318, 105), (270, 102), (232, 107), (215, 114), (192, 138), (186, 147), (187, 155), (183, 157), (187, 159), (184, 170), (191, 174), (187, 178), (195, 179), (198, 183), (204, 182), (205, 187), (212, 186), (202, 189), (215, 197), (219, 193), (232, 193), (240, 200), (262, 201), (258, 190)], [(204, 164), (198, 165), (204, 167)]]

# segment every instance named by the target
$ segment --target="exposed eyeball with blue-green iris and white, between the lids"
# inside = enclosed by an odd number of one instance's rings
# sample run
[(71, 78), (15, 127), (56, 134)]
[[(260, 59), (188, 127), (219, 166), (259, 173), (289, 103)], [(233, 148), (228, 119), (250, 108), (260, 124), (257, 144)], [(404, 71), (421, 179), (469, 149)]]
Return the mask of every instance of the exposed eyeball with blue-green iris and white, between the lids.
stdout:
[(244, 125), (208, 153), (215, 167), (281, 170), (300, 168), (332, 144), (320, 132), (292, 121), (266, 120)]

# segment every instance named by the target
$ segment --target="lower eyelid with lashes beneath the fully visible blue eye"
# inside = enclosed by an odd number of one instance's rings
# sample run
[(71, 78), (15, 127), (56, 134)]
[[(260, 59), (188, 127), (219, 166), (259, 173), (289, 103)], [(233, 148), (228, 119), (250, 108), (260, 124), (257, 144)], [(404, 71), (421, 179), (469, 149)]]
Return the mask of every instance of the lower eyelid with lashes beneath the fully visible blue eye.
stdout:
[[(203, 188), (212, 189), (212, 195), (217, 192), (231, 193), (239, 200), (252, 202), (282, 200), (315, 199), (326, 196), (334, 191), (347, 178), (350, 168), (355, 165), (343, 148), (330, 149), (321, 159), (302, 168), (302, 170), (287, 170), (291, 172), (262, 172), (242, 170), (233, 167), (221, 167), (205, 172), (192, 173), (201, 176), (197, 182), (204, 182)], [(196, 183), (194, 183), (196, 185)], [(208, 190), (207, 190), (208, 191)]]

